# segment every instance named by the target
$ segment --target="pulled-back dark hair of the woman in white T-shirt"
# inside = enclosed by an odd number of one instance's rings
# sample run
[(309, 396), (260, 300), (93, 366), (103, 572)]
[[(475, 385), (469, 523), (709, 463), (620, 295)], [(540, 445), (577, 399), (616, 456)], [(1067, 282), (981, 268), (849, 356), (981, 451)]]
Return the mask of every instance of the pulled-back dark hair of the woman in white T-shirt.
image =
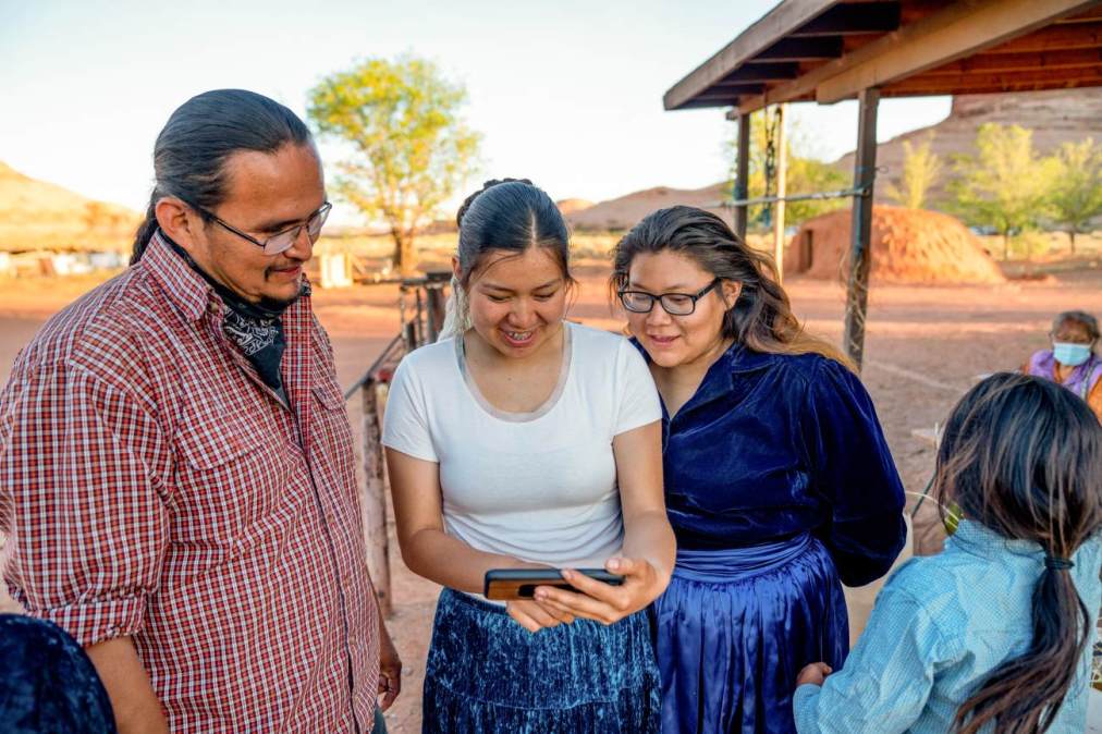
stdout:
[(488, 252), (520, 255), (530, 247), (547, 248), (568, 285), (573, 285), (566, 220), (547, 192), (528, 179), (487, 181), (463, 202), (455, 224), (460, 228), (457, 257), (463, 288)]

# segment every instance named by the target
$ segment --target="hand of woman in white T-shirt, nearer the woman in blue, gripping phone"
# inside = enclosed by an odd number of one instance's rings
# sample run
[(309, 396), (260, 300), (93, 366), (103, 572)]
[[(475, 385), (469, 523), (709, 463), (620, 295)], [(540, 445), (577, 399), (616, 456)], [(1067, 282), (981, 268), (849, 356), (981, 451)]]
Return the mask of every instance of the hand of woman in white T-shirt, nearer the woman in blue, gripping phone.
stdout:
[(611, 625), (646, 608), (666, 589), (667, 581), (644, 559), (613, 558), (605, 563), (605, 569), (622, 575), (624, 582), (613, 586), (563, 569), (563, 579), (577, 591), (537, 586), (536, 601), (544, 608), (557, 609), (561, 614)]

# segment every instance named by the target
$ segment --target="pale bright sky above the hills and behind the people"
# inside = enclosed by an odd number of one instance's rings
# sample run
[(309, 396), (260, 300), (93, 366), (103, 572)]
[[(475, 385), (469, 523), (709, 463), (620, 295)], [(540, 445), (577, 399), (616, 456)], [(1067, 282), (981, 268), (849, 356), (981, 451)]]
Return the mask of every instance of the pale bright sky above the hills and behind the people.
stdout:
[[(465, 85), (483, 179), (603, 201), (726, 176), (723, 109), (667, 112), (662, 95), (773, 0), (0, 0), (0, 161), (144, 209), (158, 132), (187, 98), (240, 87), (305, 117), (307, 90), (367, 57), (410, 53)], [(947, 97), (880, 102), (878, 138), (932, 125)], [(856, 104), (790, 108), (804, 153), (854, 147)], [(323, 161), (337, 147), (322, 143)], [(462, 199), (462, 196), (458, 196)], [(443, 213), (445, 216), (449, 213)], [(337, 220), (352, 222), (341, 206)]]

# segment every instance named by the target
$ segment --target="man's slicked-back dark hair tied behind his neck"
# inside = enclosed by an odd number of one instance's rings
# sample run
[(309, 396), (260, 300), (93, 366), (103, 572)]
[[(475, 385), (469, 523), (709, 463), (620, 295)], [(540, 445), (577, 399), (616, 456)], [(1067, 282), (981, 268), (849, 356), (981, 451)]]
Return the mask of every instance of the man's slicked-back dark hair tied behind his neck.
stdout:
[(274, 153), (311, 142), (310, 129), (290, 109), (255, 91), (215, 89), (192, 97), (169, 118), (153, 145), (156, 183), (130, 263), (156, 231), (156, 203), (177, 196), (210, 211), (226, 198), (226, 161), (238, 151)]

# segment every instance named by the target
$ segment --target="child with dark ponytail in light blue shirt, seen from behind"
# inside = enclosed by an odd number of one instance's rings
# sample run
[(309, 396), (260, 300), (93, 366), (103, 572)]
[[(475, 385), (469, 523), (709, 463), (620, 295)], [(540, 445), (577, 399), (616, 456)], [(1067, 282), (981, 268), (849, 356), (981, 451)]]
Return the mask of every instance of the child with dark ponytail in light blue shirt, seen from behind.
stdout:
[(800, 672), (797, 731), (1083, 732), (1102, 425), (1058, 385), (993, 375), (953, 409), (934, 486), (964, 519), (892, 576), (840, 671)]

